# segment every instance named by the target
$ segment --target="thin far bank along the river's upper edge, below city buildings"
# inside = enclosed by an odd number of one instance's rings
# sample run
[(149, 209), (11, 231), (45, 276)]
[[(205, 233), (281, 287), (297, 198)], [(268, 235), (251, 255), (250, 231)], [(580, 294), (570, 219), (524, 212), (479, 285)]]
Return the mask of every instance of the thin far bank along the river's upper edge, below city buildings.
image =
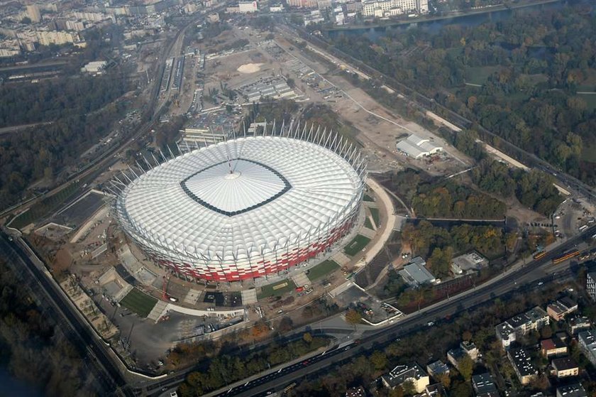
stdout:
[(322, 29), (325, 33), (329, 32), (344, 32), (344, 31), (355, 31), (355, 30), (363, 30), (363, 29), (375, 29), (375, 28), (391, 28), (393, 26), (404, 26), (404, 25), (412, 25), (413, 23), (427, 23), (427, 22), (436, 22), (436, 21), (443, 21), (446, 19), (458, 19), (458, 18), (465, 18), (467, 16), (478, 16), (484, 13), (493, 13), (499, 11), (512, 11), (516, 9), (524, 9), (526, 7), (531, 6), (541, 6), (543, 4), (551, 4), (551, 3), (558, 3), (563, 0), (526, 0), (519, 4), (500, 4), (497, 6), (489, 6), (482, 9), (475, 9), (470, 11), (453, 11), (451, 13), (447, 13), (445, 15), (440, 16), (421, 16), (420, 18), (408, 18), (407, 20), (402, 21), (381, 21), (379, 23), (369, 23), (369, 24), (362, 24), (362, 25), (343, 25), (343, 26), (335, 26), (333, 28)]

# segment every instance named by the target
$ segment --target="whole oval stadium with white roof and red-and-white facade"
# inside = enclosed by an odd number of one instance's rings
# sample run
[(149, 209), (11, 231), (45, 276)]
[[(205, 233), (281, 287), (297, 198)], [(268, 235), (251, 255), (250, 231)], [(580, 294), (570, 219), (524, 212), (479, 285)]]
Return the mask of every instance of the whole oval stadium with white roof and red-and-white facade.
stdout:
[(277, 273), (329, 249), (358, 217), (366, 162), (336, 134), (282, 127), (179, 151), (114, 183), (124, 232), (179, 276)]

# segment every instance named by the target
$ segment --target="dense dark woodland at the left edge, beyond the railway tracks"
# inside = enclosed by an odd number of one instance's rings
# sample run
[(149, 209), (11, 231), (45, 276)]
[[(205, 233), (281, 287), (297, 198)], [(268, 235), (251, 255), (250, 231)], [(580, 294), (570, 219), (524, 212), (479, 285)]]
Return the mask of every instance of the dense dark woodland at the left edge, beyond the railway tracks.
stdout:
[[(0, 123), (51, 121), (0, 138), (0, 207), (21, 200), (31, 183), (49, 181), (109, 134), (125, 110), (116, 99), (131, 85), (111, 76), (66, 78), (0, 89)], [(18, 106), (17, 106), (18, 105)], [(107, 106), (106, 106), (107, 105)]]

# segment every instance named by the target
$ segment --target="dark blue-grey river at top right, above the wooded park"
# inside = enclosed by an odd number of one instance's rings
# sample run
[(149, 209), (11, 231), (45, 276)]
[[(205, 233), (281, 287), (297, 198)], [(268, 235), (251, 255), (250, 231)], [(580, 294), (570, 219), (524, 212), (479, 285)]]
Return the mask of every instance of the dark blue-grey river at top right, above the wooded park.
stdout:
[[(325, 35), (329, 36), (329, 38), (336, 38), (339, 35), (367, 36), (370, 38), (370, 40), (375, 41), (384, 37), (387, 33), (406, 31), (407, 29), (412, 28), (420, 28), (424, 31), (428, 31), (429, 33), (438, 33), (441, 28), (449, 25), (465, 27), (478, 26), (481, 23), (485, 23), (486, 21), (505, 21), (514, 16), (515, 13), (529, 13), (537, 10), (557, 10), (562, 9), (568, 4), (585, 4), (587, 6), (592, 6), (594, 3), (593, 0), (558, 0), (552, 3), (534, 4), (518, 9), (500, 9), (496, 11), (487, 11), (484, 13), (472, 13), (468, 15), (453, 16), (451, 18), (441, 18), (433, 21), (412, 21), (412, 23), (404, 23), (404, 21), (399, 21), (399, 24), (377, 26), (373, 28), (339, 28), (337, 30), (326, 31)], [(594, 11), (595, 10), (592, 7), (592, 13), (594, 13)]]

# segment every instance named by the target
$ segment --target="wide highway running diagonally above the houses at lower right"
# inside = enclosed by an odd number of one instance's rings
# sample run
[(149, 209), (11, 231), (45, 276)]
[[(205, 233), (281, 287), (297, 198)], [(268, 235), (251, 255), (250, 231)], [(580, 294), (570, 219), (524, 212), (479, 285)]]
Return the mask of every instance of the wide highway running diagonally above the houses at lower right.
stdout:
[[(329, 366), (334, 366), (346, 361), (347, 359), (364, 352), (370, 352), (373, 349), (393, 342), (398, 337), (419, 331), (421, 328), (428, 327), (429, 321), (439, 322), (446, 316), (451, 316), (457, 312), (473, 308), (476, 305), (481, 305), (489, 300), (493, 300), (498, 296), (505, 295), (512, 290), (518, 288), (534, 287), (534, 283), (539, 281), (552, 281), (553, 276), (547, 276), (543, 268), (551, 265), (551, 260), (568, 249), (573, 248), (579, 244), (585, 236), (592, 236), (596, 232), (596, 226), (587, 229), (583, 234), (573, 237), (563, 244), (558, 246), (555, 250), (548, 252), (538, 261), (531, 261), (525, 266), (514, 271), (505, 273), (502, 278), (498, 280), (487, 281), (475, 288), (475, 290), (468, 291), (468, 293), (461, 293), (450, 300), (443, 300), (430, 308), (422, 309), (411, 315), (407, 315), (402, 320), (397, 320), (394, 325), (385, 327), (382, 330), (373, 332), (371, 335), (365, 336), (358, 344), (350, 344), (341, 349), (333, 349), (325, 354), (320, 354), (312, 359), (304, 360), (301, 363), (287, 366), (273, 374), (267, 374), (258, 379), (250, 381), (248, 384), (237, 386), (235, 388), (221, 391), (214, 396), (238, 396), (249, 397), (259, 396), (262, 393), (267, 393), (270, 390), (280, 390), (283, 386), (298, 381), (299, 379), (313, 374), (314, 372), (327, 369)], [(561, 269), (568, 269), (565, 263), (558, 265)], [(564, 271), (562, 270), (564, 273)], [(561, 272), (558, 276), (561, 276)], [(537, 285), (537, 284), (536, 284)], [(265, 394), (263, 394), (265, 395)]]

